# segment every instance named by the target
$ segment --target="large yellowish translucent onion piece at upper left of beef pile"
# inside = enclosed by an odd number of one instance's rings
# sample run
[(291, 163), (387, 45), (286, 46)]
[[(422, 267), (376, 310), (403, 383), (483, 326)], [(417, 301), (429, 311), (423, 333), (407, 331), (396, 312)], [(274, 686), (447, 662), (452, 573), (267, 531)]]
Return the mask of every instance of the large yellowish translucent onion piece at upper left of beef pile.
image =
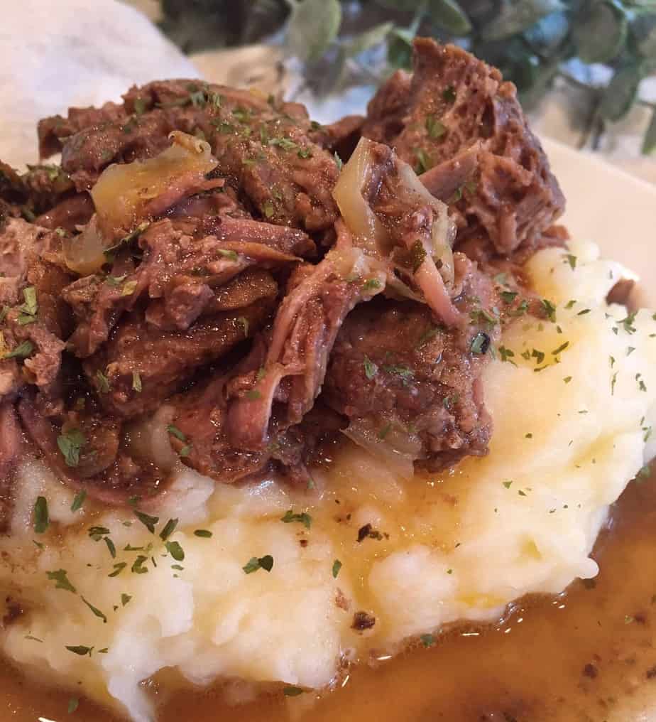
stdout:
[(180, 131), (169, 137), (171, 147), (154, 158), (110, 165), (98, 178), (91, 196), (107, 238), (134, 228), (149, 201), (175, 188), (182, 178), (185, 185), (202, 183), (217, 167), (209, 143)]

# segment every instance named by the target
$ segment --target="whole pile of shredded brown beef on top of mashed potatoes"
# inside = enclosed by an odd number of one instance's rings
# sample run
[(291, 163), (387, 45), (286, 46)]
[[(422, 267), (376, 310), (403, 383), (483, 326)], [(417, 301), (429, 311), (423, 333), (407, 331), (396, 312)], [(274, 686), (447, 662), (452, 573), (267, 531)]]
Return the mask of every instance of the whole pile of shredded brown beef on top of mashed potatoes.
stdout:
[[(564, 245), (563, 201), (515, 87), (414, 47), (366, 118), (156, 81), (41, 121), (61, 167), (0, 163), (0, 529), (30, 444), (71, 487), (146, 508), (172, 469), (148, 428), (222, 483), (308, 484), (336, 438), (406, 471), (486, 453), (481, 373), (504, 323), (547, 313), (522, 266)], [(209, 165), (103, 175), (172, 142)]]

